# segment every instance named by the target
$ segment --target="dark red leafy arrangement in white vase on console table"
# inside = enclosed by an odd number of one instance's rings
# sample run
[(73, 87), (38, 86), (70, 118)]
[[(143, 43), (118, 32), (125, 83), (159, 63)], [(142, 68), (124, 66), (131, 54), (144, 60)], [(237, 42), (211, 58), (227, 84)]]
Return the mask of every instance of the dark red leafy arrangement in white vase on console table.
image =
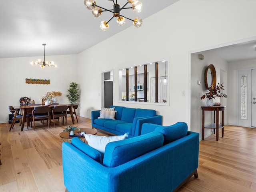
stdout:
[(221, 93), (221, 90), (224, 90), (223, 83), (222, 84), (217, 84), (216, 86), (212, 86), (207, 89), (206, 93), (201, 97), (201, 100), (204, 98), (208, 98), (206, 100), (206, 105), (207, 106), (214, 106), (214, 101), (216, 97), (221, 98), (221, 97), (227, 97), (226, 94)]

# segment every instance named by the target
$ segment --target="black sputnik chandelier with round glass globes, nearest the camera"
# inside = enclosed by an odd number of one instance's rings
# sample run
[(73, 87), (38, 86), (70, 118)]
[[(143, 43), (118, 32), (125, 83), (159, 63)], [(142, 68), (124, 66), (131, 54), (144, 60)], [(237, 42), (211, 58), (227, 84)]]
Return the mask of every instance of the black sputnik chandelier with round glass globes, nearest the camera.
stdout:
[[(126, 4), (124, 4), (124, 6), (122, 6), (122, 8), (120, 8), (120, 5), (114, 2), (114, 0), (108, 0), (108, 1), (112, 1), (113, 2), (113, 9), (106, 9), (103, 8), (101, 6), (98, 6), (96, 4), (95, 0), (84, 0), (84, 5), (89, 9), (92, 10), (92, 14), (95, 17), (100, 17), (102, 15), (102, 12), (108, 11), (108, 12), (112, 12), (113, 13), (113, 17), (107, 22), (107, 21), (102, 21), (100, 23), (100, 29), (102, 29), (103, 31), (108, 30), (108, 23), (114, 18), (116, 17), (116, 22), (119, 26), (123, 26), (125, 24), (125, 19), (131, 20), (133, 22), (133, 25), (135, 27), (140, 27), (142, 26), (142, 19), (137, 17), (134, 20), (127, 18), (123, 15), (120, 14), (120, 11), (123, 9), (132, 9), (134, 12), (139, 13), (142, 10), (142, 3), (139, 2), (138, 0), (127, 0)], [(125, 7), (128, 3), (132, 4), (132, 7)]]

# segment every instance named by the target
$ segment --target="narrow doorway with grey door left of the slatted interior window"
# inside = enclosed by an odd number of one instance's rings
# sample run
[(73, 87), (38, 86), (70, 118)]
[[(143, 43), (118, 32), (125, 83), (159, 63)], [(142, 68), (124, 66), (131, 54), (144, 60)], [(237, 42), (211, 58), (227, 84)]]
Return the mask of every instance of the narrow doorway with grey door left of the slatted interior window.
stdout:
[(102, 107), (110, 108), (114, 102), (114, 70), (102, 72)]

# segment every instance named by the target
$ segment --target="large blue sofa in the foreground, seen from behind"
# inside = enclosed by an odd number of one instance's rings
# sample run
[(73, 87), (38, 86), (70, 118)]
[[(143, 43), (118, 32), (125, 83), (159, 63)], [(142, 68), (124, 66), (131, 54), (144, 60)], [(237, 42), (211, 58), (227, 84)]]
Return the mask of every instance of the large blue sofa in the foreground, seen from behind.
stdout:
[[(153, 132), (148, 132), (149, 130)], [(199, 134), (187, 124), (143, 124), (144, 134), (106, 145), (104, 158), (78, 138), (62, 144), (69, 192), (171, 192), (198, 177)], [(146, 133), (148, 132), (148, 133)], [(171, 141), (171, 142), (170, 142)]]

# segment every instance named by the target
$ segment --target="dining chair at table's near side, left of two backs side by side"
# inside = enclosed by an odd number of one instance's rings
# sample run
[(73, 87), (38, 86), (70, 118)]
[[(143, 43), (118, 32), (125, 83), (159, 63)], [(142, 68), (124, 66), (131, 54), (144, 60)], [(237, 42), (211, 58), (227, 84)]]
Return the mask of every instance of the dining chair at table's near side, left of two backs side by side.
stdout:
[(48, 128), (50, 128), (50, 106), (35, 106), (32, 110), (33, 122), (34, 122), (34, 130), (35, 120), (47, 120)]

